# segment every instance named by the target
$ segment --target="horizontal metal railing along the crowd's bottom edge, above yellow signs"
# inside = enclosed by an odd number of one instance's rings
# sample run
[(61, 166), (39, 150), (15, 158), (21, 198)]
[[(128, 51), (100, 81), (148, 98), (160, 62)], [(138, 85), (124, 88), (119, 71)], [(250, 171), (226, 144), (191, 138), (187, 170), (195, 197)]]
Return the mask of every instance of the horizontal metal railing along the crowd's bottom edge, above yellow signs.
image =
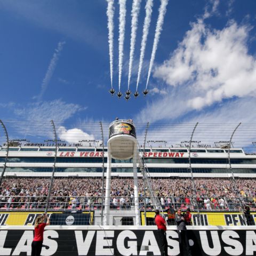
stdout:
[[(239, 211), (241, 209), (238, 197), (155, 197), (161, 202), (163, 211), (173, 207), (186, 211)], [(256, 210), (256, 201), (253, 197), (245, 197), (244, 201)], [(0, 196), (1, 210), (45, 210), (47, 196)], [(140, 210), (154, 210), (154, 200), (150, 197), (139, 197)], [(104, 205), (103, 205), (104, 207)], [(48, 210), (101, 210), (101, 196), (51, 196)], [(111, 196), (110, 210), (134, 210), (133, 196)]]

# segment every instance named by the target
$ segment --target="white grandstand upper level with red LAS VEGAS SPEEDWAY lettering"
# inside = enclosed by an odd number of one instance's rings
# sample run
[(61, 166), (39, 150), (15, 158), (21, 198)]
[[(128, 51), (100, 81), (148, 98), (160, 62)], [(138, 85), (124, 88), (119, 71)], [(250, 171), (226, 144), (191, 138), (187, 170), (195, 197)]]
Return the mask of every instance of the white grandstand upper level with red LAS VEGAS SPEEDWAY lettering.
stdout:
[[(79, 175), (83, 177), (100, 177), (102, 158), (107, 163), (107, 148), (58, 146), (56, 175), (67, 177)], [(0, 146), (0, 168), (4, 165), (6, 145)], [(139, 148), (152, 177), (188, 177), (189, 149), (186, 147), (146, 147)], [(237, 177), (256, 177), (256, 155), (245, 154), (242, 148), (200, 148), (190, 150), (190, 162), (195, 177), (227, 177), (230, 175), (230, 163)], [(7, 170), (5, 175), (17, 176), (49, 176), (55, 156), (53, 146), (17, 146), (9, 147)], [(113, 175), (130, 177), (132, 175), (132, 159), (112, 159)], [(138, 172), (140, 175), (140, 163)], [(105, 166), (106, 169), (106, 166)]]

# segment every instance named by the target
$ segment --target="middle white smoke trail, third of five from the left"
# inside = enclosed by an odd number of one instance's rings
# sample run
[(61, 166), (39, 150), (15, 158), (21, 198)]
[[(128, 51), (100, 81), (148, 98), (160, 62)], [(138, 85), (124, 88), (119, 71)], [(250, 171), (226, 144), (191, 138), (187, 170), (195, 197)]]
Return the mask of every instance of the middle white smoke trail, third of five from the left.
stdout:
[(140, 3), (141, 0), (133, 0), (132, 3), (132, 31), (131, 31), (131, 46), (130, 46), (130, 61), (129, 61), (129, 75), (128, 75), (128, 90), (130, 87), (130, 80), (132, 75), (132, 62), (134, 57), (135, 50), (135, 41), (136, 41), (136, 31), (138, 28), (138, 15), (140, 12)]

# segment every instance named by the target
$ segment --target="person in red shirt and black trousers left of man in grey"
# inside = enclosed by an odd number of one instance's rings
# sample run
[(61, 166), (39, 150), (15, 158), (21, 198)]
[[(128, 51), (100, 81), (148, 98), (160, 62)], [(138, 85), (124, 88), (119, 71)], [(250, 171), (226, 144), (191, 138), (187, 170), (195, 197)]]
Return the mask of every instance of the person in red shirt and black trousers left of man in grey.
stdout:
[(161, 256), (167, 256), (167, 240), (166, 240), (166, 221), (165, 219), (159, 214), (158, 210), (155, 210), (155, 223), (157, 226), (157, 234), (160, 244), (160, 251)]

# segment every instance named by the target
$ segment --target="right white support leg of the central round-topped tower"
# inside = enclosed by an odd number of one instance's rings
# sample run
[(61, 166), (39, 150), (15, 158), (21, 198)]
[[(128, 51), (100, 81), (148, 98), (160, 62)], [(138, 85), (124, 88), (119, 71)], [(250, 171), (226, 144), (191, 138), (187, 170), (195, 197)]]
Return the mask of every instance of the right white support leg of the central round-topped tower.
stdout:
[(137, 144), (134, 143), (133, 148), (133, 182), (134, 182), (134, 207), (136, 226), (140, 226), (140, 208), (139, 208), (139, 194), (138, 194), (138, 173), (137, 173)]

